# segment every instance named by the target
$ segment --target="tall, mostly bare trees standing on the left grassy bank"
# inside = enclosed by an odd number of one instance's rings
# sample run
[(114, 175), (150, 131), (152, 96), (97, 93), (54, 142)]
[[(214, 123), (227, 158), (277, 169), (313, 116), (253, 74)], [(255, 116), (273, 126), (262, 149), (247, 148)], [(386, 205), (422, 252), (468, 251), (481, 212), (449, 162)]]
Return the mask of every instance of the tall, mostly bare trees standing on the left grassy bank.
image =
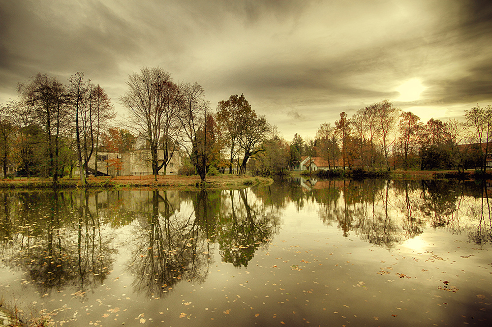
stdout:
[[(78, 167), (83, 184), (91, 158), (99, 151), (147, 149), (153, 175), (166, 172), (173, 155), (184, 157), (183, 174), (228, 170), (246, 173), (249, 158), (263, 151), (271, 131), (244, 95), (220, 101), (213, 113), (197, 83), (175, 83), (161, 68), (142, 68), (128, 76), (119, 102), (128, 118), (112, 127), (116, 114), (107, 93), (72, 75), (67, 83), (38, 73), (18, 85), (19, 98), (1, 105), (0, 162), (3, 177), (15, 165), (21, 176), (58, 178)], [(97, 173), (97, 161), (95, 172)], [(121, 166), (109, 159), (108, 166)]]

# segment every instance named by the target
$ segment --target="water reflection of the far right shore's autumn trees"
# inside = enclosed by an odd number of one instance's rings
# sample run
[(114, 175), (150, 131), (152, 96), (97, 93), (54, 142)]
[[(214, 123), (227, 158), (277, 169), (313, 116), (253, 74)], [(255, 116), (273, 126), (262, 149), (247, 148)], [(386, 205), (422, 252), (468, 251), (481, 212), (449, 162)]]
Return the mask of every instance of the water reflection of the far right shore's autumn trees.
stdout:
[(470, 225), (467, 217), (474, 217), (478, 226), (469, 232), (469, 239), (476, 244), (492, 241), (487, 188), (474, 182), (301, 178), (297, 182), (304, 191), (297, 193), (297, 208), (315, 201), (323, 223), (337, 223), (344, 237), (354, 233), (369, 243), (392, 248), (422, 234), (425, 225), (461, 233)]

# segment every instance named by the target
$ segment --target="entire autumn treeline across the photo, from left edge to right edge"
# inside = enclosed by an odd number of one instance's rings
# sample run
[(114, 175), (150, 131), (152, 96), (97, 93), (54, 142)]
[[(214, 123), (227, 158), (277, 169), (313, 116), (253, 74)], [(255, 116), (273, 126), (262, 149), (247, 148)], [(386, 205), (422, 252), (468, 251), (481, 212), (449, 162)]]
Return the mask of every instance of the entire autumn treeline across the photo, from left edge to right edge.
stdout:
[[(180, 173), (207, 175), (285, 173), (302, 156), (321, 157), (328, 169), (465, 169), (485, 171), (492, 137), (492, 108), (479, 105), (457, 119), (427, 123), (402, 112), (388, 100), (345, 112), (332, 125), (320, 125), (314, 139), (295, 134), (283, 139), (275, 126), (257, 115), (241, 95), (220, 101), (213, 112), (198, 83), (176, 83), (165, 70), (142, 68), (126, 80), (118, 101), (127, 119), (116, 113), (106, 91), (75, 73), (67, 83), (38, 73), (19, 83), (19, 98), (1, 105), (0, 164), (4, 178), (14, 165), (21, 176), (58, 178), (78, 168), (83, 184), (98, 152), (149, 152), (153, 175), (165, 174), (174, 155)], [(118, 127), (115, 125), (118, 124)], [(483, 143), (483, 146), (480, 144)], [(465, 146), (468, 144), (468, 146)], [(474, 145), (473, 145), (474, 144)], [(120, 168), (121, 159), (106, 160)]]

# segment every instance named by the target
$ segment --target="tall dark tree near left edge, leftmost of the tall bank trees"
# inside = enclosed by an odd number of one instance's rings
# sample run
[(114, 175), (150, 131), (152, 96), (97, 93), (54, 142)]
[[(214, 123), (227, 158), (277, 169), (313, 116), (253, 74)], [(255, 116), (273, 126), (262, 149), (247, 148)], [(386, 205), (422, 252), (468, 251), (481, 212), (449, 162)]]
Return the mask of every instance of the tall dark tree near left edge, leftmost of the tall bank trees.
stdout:
[(18, 91), (30, 107), (34, 121), (43, 128), (49, 158), (48, 174), (53, 178), (53, 185), (57, 186), (58, 177), (62, 175), (59, 162), (61, 141), (73, 121), (67, 106), (68, 92), (56, 77), (40, 73), (28, 83), (19, 84)]

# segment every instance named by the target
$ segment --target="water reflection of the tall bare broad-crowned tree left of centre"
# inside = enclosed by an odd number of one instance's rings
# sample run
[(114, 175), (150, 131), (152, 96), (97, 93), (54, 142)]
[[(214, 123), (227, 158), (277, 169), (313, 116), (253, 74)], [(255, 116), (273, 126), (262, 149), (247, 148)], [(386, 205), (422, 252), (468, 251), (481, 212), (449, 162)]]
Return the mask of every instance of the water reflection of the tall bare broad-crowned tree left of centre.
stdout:
[[(181, 280), (205, 280), (210, 263), (209, 243), (200, 233), (199, 211), (180, 212), (167, 199), (168, 192), (152, 191), (143, 204), (145, 220), (135, 227), (135, 250), (129, 271), (133, 286), (149, 297), (162, 297)], [(203, 193), (198, 204), (204, 205)]]

